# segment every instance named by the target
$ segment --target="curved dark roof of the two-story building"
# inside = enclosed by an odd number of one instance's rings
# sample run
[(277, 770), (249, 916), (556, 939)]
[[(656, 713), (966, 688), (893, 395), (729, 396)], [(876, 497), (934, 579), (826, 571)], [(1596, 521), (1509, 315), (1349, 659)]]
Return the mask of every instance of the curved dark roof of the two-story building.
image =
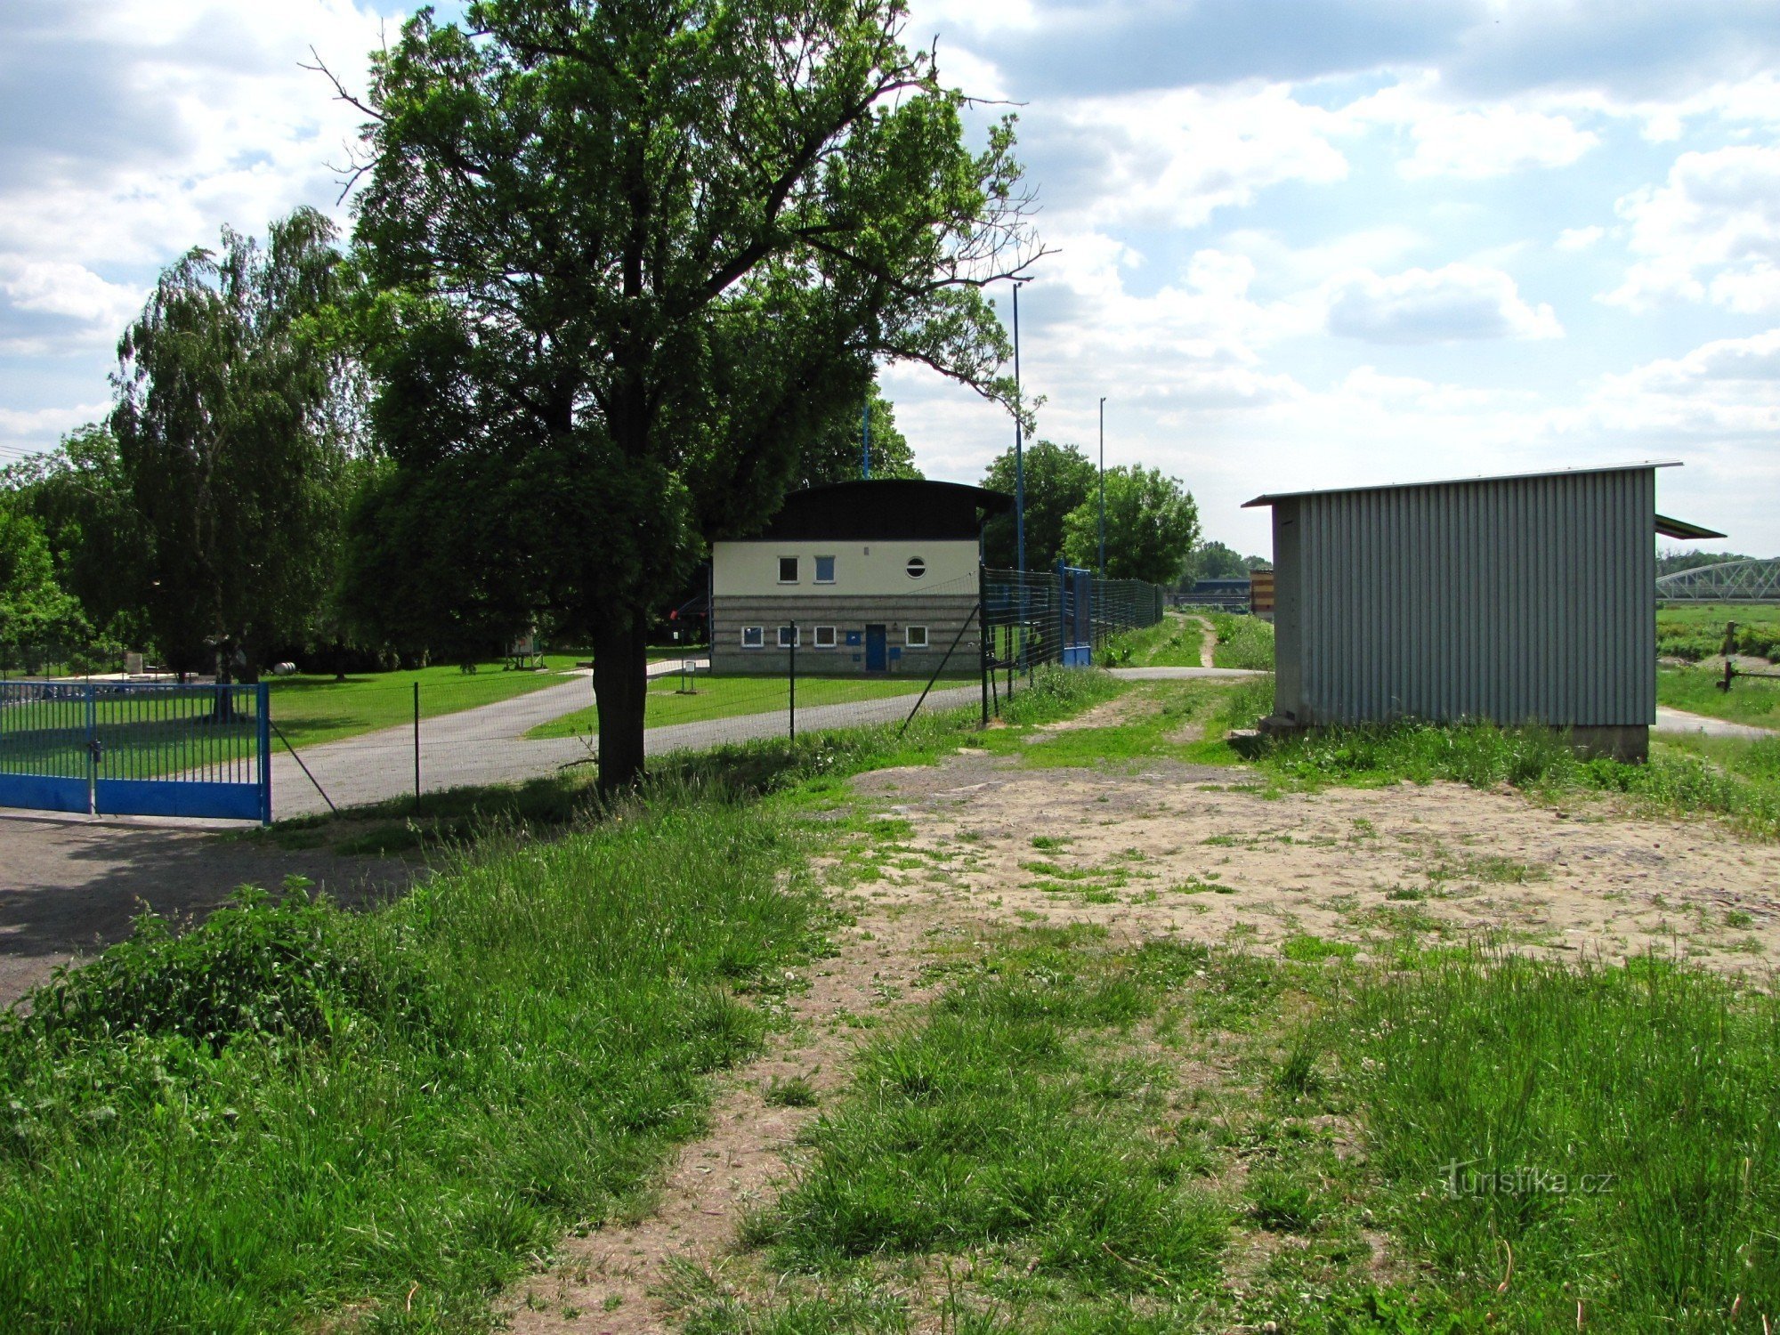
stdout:
[(829, 482), (792, 491), (760, 534), (778, 541), (975, 539), (983, 520), (1013, 509), (1013, 497), (963, 482), (902, 477)]

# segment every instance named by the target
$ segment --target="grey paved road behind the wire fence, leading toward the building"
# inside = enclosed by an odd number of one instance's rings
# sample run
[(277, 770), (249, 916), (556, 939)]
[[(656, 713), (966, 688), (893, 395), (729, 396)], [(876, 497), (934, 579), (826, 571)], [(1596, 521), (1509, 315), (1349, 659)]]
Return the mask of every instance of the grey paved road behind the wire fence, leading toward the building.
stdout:
[[(700, 662), (700, 666), (705, 664)], [(676, 671), (680, 671), (678, 660), (650, 666), (651, 676)], [(906, 696), (799, 708), (797, 730), (815, 732), (901, 719), (908, 716), (918, 692), (920, 682), (911, 682)], [(954, 708), (979, 698), (977, 685), (945, 687), (927, 696), (927, 708)], [(587, 678), (582, 676), (577, 682), (532, 691), (516, 700), (422, 719), (420, 790), (440, 792), (481, 783), (520, 783), (568, 765), (591, 762), (598, 755), (600, 740), (593, 733), (550, 739), (525, 737), (539, 723), (573, 714), (591, 703), (593, 691)], [(703, 723), (675, 723), (650, 728), (644, 733), (644, 749), (648, 755), (708, 749), (723, 742), (783, 737), (787, 728), (783, 708)], [(335, 806), (390, 801), (408, 797), (415, 790), (413, 724), (304, 748), (301, 758), (315, 781), (310, 781), (290, 755), (272, 756), (272, 813), (278, 819), (326, 812), (328, 801), (317, 792), (317, 783), (328, 790)]]

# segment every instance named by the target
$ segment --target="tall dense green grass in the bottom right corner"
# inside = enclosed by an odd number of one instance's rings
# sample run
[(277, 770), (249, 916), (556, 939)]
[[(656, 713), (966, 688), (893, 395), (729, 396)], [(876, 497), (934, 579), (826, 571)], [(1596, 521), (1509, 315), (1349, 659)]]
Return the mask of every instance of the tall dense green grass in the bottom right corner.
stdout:
[(1522, 1331), (1780, 1319), (1773, 997), (1490, 958), (1362, 986), (1335, 1018), (1378, 1200), (1458, 1307)]

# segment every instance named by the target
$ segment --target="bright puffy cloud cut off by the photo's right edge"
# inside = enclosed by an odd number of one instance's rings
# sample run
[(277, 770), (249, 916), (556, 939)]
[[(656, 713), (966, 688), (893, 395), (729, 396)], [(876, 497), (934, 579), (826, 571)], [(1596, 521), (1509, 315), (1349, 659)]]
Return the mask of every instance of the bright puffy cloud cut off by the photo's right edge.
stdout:
[(1623, 196), (1639, 260), (1604, 301), (1646, 310), (1663, 297), (1725, 310), (1780, 310), (1780, 148), (1682, 153), (1668, 182)]

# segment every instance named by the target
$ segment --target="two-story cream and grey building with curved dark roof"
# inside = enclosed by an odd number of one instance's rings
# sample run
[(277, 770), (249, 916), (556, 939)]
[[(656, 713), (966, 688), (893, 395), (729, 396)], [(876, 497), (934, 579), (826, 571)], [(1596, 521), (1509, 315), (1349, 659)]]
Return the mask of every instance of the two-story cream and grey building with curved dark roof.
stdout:
[(977, 668), (983, 523), (1013, 497), (878, 479), (794, 491), (758, 538), (712, 543), (710, 668), (931, 675)]

